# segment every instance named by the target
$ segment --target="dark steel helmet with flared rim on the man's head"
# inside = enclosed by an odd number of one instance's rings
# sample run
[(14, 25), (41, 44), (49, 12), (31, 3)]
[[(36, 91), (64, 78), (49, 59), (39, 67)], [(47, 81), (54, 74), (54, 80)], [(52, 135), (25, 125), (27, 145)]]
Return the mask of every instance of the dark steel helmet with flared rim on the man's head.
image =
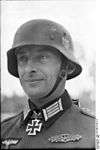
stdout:
[(28, 45), (46, 45), (56, 48), (67, 60), (74, 71), (68, 74), (67, 80), (78, 76), (82, 68), (74, 57), (74, 48), (71, 36), (58, 23), (46, 19), (35, 19), (23, 24), (16, 32), (12, 48), (7, 52), (8, 71), (19, 77), (15, 49)]

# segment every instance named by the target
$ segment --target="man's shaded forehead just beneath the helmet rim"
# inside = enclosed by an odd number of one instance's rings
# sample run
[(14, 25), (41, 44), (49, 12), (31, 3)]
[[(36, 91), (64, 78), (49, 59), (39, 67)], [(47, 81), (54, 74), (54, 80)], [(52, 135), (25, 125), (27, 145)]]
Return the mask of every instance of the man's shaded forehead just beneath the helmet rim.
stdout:
[(40, 46), (38, 46), (38, 45), (36, 45), (36, 46), (23, 46), (23, 47), (20, 47), (20, 48), (17, 48), (16, 50), (15, 50), (15, 53), (16, 54), (23, 54), (23, 53), (31, 53), (31, 52), (34, 52), (34, 53), (46, 53), (46, 52), (48, 52), (48, 53), (52, 53), (52, 54), (58, 54), (59, 53), (59, 55), (60, 55), (60, 52), (57, 50), (57, 49), (55, 49), (55, 48), (53, 48), (53, 47), (50, 47), (50, 46), (42, 46), (42, 45), (40, 45)]

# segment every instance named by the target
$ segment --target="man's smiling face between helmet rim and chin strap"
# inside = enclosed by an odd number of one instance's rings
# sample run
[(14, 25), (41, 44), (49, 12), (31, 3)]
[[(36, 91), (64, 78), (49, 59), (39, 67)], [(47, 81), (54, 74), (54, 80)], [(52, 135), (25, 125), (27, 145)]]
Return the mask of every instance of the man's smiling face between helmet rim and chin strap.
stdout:
[(17, 62), (21, 85), (33, 101), (52, 90), (61, 67), (58, 52), (44, 46), (27, 46), (17, 53)]

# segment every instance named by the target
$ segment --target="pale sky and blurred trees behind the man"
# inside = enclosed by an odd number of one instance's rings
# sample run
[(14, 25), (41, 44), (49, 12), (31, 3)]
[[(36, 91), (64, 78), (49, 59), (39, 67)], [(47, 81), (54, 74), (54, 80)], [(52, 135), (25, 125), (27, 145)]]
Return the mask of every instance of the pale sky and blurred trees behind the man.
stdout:
[(15, 115), (27, 102), (20, 82), (7, 70), (6, 52), (16, 30), (26, 21), (44, 18), (62, 24), (71, 34), (75, 56), (83, 67), (80, 76), (66, 82), (72, 99), (95, 114), (96, 100), (96, 4), (95, 0), (1, 2), (1, 119)]

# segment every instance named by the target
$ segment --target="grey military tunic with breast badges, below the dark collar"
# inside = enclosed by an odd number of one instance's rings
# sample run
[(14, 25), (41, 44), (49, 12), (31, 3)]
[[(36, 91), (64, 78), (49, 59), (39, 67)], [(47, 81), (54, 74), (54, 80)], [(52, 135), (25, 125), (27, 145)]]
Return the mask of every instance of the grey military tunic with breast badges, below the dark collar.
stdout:
[[(61, 100), (62, 109), (53, 112), (52, 116), (45, 120), (43, 110), (50, 106), (51, 112), (54, 111), (55, 103)], [(39, 117), (32, 117), (30, 113), (24, 119), (23, 112), (15, 117), (3, 121), (1, 128), (2, 148), (90, 148), (95, 149), (95, 119), (84, 113), (78, 106), (73, 104), (68, 93), (65, 92), (59, 99), (46, 104), (39, 112), (42, 113), (42, 127), (40, 131), (33, 134), (36, 126), (29, 126), (29, 120)], [(30, 103), (30, 102), (29, 102)], [(32, 105), (31, 105), (32, 106)], [(54, 109), (53, 109), (54, 108)], [(33, 111), (35, 108), (33, 109)], [(36, 111), (36, 110), (35, 110)], [(39, 114), (38, 112), (38, 114)], [(31, 124), (31, 123), (30, 123)], [(30, 129), (32, 129), (30, 132)], [(29, 134), (30, 132), (30, 134)], [(15, 140), (13, 144), (12, 140)]]

